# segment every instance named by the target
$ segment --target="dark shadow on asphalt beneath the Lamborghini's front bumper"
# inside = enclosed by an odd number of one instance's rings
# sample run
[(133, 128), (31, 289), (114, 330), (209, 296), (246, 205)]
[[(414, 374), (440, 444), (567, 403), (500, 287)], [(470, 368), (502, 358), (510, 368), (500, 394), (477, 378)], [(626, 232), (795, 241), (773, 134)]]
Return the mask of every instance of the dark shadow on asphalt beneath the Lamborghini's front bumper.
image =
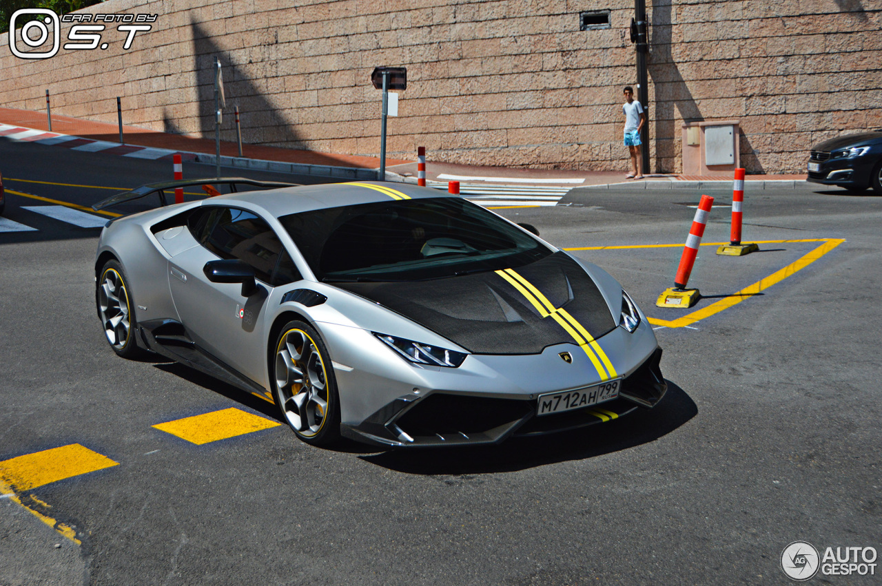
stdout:
[(698, 412), (698, 406), (684, 389), (668, 381), (668, 393), (654, 409), (639, 409), (609, 423), (560, 434), (512, 438), (498, 446), (393, 449), (359, 457), (370, 464), (407, 474), (520, 471), (634, 448), (671, 433)]

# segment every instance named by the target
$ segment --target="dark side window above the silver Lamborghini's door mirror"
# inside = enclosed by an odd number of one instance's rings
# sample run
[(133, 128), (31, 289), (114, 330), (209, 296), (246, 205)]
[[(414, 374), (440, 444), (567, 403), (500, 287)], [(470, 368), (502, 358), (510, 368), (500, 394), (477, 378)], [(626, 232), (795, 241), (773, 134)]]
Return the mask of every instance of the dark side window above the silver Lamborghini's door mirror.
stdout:
[(238, 258), (248, 263), (257, 278), (271, 283), (279, 256), (284, 252), (273, 228), (250, 211), (221, 206), (208, 209), (212, 213), (203, 226), (204, 237), (199, 239), (202, 245), (221, 258)]

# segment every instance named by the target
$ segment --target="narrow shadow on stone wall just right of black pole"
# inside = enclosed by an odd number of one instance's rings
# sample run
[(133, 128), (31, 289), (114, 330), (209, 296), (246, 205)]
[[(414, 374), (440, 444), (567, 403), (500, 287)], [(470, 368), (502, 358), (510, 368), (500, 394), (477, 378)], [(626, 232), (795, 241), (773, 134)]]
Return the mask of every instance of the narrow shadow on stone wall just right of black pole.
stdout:
[[(703, 121), (698, 104), (692, 98), (683, 75), (671, 56), (672, 26), (671, 4), (653, 3), (652, 53), (647, 59), (649, 77), (655, 85), (655, 157), (656, 165), (660, 159), (676, 160), (682, 153), (676, 152), (677, 137), (680, 135), (674, 110), (685, 121)], [(656, 171), (671, 172), (674, 169), (658, 168)]]

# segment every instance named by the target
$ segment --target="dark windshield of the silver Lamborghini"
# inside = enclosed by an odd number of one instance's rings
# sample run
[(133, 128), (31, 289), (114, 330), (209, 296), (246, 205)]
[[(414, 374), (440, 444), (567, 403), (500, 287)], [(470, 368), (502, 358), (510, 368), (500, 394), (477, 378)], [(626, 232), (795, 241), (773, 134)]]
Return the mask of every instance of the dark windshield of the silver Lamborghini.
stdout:
[(280, 219), (323, 281), (403, 281), (523, 266), (542, 242), (456, 197), (304, 211)]

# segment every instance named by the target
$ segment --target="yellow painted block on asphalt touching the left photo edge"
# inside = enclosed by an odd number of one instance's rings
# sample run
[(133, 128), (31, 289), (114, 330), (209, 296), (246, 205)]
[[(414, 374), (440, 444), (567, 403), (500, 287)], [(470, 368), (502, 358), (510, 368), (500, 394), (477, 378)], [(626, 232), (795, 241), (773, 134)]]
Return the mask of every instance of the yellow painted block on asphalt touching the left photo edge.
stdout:
[(0, 462), (0, 480), (20, 492), (116, 465), (107, 456), (71, 443)]

